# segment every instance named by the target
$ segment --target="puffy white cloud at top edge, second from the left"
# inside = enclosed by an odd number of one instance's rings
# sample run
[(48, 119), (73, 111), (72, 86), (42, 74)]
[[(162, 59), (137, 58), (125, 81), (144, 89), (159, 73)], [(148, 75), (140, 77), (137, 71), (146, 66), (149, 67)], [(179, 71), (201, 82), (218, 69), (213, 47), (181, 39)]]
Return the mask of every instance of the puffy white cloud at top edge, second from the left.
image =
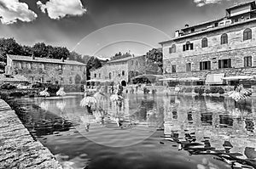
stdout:
[(49, 0), (43, 4), (38, 1), (38, 7), (43, 13), (48, 13), (51, 19), (61, 19), (67, 15), (83, 15), (86, 9), (80, 0)]

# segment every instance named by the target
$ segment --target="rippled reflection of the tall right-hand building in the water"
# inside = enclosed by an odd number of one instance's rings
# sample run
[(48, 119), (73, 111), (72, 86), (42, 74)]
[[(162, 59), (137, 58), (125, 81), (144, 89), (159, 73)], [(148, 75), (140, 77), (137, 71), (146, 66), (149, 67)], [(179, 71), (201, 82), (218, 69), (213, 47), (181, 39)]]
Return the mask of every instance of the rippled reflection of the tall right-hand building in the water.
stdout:
[(165, 138), (191, 155), (216, 155), (236, 168), (256, 167), (253, 101), (235, 104), (228, 98), (165, 97)]

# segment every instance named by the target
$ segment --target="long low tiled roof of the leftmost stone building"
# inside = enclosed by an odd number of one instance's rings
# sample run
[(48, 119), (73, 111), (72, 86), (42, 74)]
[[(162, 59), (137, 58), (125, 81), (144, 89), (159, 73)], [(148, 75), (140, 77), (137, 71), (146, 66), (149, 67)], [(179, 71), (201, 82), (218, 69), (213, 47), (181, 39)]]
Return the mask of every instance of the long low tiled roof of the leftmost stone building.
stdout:
[(51, 63), (51, 64), (61, 64), (61, 65), (85, 65), (81, 62), (75, 60), (67, 60), (64, 62), (61, 59), (49, 59), (49, 58), (38, 58), (32, 59), (31, 56), (20, 56), (20, 55), (8, 55), (10, 59), (18, 60), (18, 61), (27, 61), (27, 62), (40, 62), (40, 63)]

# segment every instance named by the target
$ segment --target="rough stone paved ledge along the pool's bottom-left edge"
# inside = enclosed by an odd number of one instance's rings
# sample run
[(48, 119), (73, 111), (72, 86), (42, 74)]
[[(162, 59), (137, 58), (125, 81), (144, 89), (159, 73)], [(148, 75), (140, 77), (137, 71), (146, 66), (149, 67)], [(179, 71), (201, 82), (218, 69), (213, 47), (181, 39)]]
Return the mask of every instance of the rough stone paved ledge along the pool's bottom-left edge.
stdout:
[(14, 110), (0, 99), (0, 168), (57, 168), (55, 156), (35, 141)]

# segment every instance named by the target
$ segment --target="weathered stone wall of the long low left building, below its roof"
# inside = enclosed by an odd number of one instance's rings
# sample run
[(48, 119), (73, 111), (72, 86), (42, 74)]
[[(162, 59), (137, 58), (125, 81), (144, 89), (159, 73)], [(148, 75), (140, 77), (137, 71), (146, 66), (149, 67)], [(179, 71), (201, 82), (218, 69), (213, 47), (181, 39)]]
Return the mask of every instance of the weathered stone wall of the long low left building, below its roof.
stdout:
[[(86, 79), (86, 67), (81, 65), (58, 65), (37, 62), (12, 61), (10, 74), (26, 76), (30, 82), (79, 84)], [(61, 82), (62, 79), (62, 82)]]

